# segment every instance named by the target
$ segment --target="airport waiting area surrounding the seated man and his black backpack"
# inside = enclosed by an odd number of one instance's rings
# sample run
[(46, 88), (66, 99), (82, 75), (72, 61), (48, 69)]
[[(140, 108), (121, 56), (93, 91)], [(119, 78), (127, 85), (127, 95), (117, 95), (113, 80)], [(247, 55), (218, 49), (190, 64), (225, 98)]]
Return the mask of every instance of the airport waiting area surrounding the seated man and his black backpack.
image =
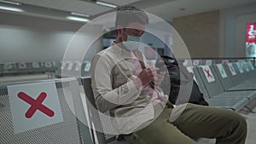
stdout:
[(147, 65), (182, 61), (210, 107), (246, 119), (255, 144), (256, 0), (0, 0), (0, 143), (128, 144), (90, 85), (91, 60), (113, 45), (127, 5), (148, 14)]

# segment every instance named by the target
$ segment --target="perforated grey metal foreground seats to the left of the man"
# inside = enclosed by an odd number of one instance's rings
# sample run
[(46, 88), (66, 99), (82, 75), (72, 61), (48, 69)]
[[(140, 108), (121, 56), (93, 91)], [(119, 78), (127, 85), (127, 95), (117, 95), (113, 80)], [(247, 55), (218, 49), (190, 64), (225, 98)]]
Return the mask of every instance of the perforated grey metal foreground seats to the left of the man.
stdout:
[[(37, 91), (38, 89), (44, 89), (43, 86), (37, 86), (37, 84), (48, 84), (49, 82), (55, 83), (55, 89), (60, 101), (61, 115), (63, 121), (60, 123), (49, 124), (37, 129), (25, 130), (20, 133), (15, 133), (15, 117), (12, 115), (14, 110), (11, 106), (8, 86), (20, 85), (19, 91), (29, 91), (23, 89), (22, 86), (27, 85), (28, 89)], [(50, 91), (44, 89), (46, 94), (50, 94)], [(27, 92), (29, 94), (29, 92)], [(32, 94), (32, 93), (31, 93)], [(0, 89), (0, 141), (3, 144), (8, 143), (113, 143), (115, 139), (114, 135), (104, 135), (107, 133), (103, 130), (102, 121), (99, 120), (99, 112), (96, 110), (93, 96), (91, 96), (90, 78), (59, 78), (40, 81), (27, 81), (19, 83), (6, 84), (5, 88)], [(52, 96), (52, 95), (51, 95)], [(50, 98), (44, 100), (44, 105), (47, 104)], [(35, 97), (36, 100), (36, 97)], [(20, 101), (16, 99), (15, 101)], [(26, 102), (20, 102), (19, 116), (24, 116), (28, 111), (29, 106)], [(55, 107), (49, 107), (55, 111)], [(24, 110), (24, 112), (23, 112)], [(21, 112), (20, 112), (21, 111)], [(29, 124), (40, 124), (44, 122), (44, 118), (36, 118), (40, 111), (36, 111), (34, 118), (26, 119), (25, 121), (31, 121)], [(42, 113), (42, 112), (41, 112)], [(18, 116), (18, 117), (19, 117)], [(24, 120), (24, 119), (23, 119)], [(23, 121), (21, 120), (21, 121)], [(49, 119), (48, 119), (49, 120)], [(17, 121), (17, 119), (16, 119)], [(20, 121), (20, 119), (18, 120)], [(110, 118), (104, 118), (104, 123), (110, 124)], [(21, 122), (22, 123), (22, 122)], [(26, 125), (31, 128), (32, 125)], [(108, 124), (104, 124), (105, 126)], [(16, 125), (16, 128), (19, 125)], [(96, 128), (94, 130), (93, 128)], [(107, 130), (110, 134), (113, 131)], [(99, 132), (100, 130), (102, 132)], [(103, 132), (104, 131), (104, 132)], [(119, 142), (119, 141), (118, 141)]]

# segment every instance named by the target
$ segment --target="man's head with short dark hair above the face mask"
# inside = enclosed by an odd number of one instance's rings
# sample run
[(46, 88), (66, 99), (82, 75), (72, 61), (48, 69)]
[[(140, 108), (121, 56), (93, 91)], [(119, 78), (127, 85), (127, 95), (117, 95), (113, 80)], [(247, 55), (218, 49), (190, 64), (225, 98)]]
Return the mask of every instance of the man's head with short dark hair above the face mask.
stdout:
[(143, 10), (133, 6), (119, 7), (115, 21), (118, 32), (116, 43), (126, 42), (129, 37), (133, 39), (142, 37), (146, 25), (148, 25), (148, 15)]

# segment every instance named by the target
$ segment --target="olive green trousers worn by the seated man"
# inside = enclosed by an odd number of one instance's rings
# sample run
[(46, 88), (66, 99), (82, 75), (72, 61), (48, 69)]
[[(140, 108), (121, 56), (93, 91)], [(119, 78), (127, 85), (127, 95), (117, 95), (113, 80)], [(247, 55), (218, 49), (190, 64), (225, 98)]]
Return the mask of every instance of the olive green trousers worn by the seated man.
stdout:
[(188, 104), (180, 117), (170, 122), (172, 108), (143, 130), (125, 135), (131, 144), (196, 144), (193, 138), (216, 138), (216, 144), (244, 144), (247, 136), (245, 118), (232, 110)]

